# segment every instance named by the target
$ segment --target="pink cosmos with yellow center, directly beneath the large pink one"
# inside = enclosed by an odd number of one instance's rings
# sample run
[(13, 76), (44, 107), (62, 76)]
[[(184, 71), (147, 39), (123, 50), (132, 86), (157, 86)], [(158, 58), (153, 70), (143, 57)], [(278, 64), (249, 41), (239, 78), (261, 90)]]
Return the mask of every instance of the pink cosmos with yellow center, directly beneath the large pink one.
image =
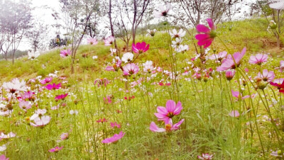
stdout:
[(166, 119), (164, 120), (165, 122), (165, 128), (159, 128), (155, 122), (151, 122), (150, 124), (150, 130), (152, 132), (171, 132), (174, 130), (178, 130), (180, 128), (180, 125), (182, 124), (182, 122), (185, 121), (185, 119), (180, 120), (180, 122), (175, 123), (175, 125), (173, 125), (173, 121), (172, 119)]

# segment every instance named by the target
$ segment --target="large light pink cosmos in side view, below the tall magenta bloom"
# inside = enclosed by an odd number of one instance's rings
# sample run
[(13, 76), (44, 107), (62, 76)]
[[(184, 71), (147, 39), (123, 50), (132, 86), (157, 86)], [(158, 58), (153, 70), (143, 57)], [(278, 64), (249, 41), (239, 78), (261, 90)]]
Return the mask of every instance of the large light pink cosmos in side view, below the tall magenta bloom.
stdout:
[[(240, 52), (236, 52), (234, 53), (233, 57), (234, 59), (231, 57), (231, 55), (228, 55), (228, 57), (226, 57), (226, 59), (223, 60), (222, 64), (220, 67), (217, 67), (217, 71), (225, 71), (227, 69), (235, 69), (236, 66), (238, 67), (240, 62), (241, 62), (241, 58), (244, 57), (244, 54), (246, 53), (246, 47), (244, 47), (244, 49)], [(234, 64), (234, 60), (236, 61), (236, 65)]]

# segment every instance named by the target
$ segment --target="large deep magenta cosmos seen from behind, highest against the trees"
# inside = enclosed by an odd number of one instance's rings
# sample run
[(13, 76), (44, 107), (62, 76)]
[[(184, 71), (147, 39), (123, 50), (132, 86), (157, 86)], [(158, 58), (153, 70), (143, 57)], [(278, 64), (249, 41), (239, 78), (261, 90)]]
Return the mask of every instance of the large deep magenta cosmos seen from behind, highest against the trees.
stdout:
[(204, 45), (204, 48), (209, 47), (217, 36), (215, 33), (216, 27), (214, 26), (212, 19), (208, 18), (206, 21), (210, 28), (207, 28), (205, 25), (197, 25), (197, 32), (204, 34), (195, 35), (195, 38), (198, 40), (197, 45)]

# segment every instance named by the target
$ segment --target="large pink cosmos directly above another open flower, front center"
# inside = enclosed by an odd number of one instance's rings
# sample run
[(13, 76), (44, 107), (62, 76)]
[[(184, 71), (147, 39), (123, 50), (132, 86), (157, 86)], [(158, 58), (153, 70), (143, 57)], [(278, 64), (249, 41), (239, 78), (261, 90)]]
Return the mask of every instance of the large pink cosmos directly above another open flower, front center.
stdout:
[(174, 115), (180, 114), (182, 110), (182, 103), (178, 101), (178, 104), (175, 105), (175, 101), (168, 100), (165, 104), (165, 108), (158, 106), (157, 111), (158, 113), (154, 113), (158, 120), (168, 120), (173, 118)]

